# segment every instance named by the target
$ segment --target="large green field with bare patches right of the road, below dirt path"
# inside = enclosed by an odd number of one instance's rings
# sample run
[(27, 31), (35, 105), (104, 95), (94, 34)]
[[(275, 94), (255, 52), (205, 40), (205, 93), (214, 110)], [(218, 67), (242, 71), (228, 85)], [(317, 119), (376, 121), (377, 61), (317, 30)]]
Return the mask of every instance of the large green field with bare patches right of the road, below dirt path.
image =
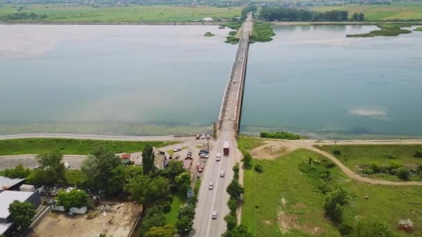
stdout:
[[(262, 165), (262, 173), (245, 170), (242, 224), (254, 236), (340, 236), (324, 216), (320, 180), (298, 168), (309, 157), (323, 159), (309, 150), (296, 150), (276, 160), (255, 160)], [(373, 186), (348, 179), (337, 166), (330, 170), (332, 182), (343, 184), (351, 196), (344, 211), (345, 224), (376, 220), (387, 223), (398, 236), (409, 236), (397, 231), (396, 225), (398, 220), (410, 218), (414, 233), (422, 233), (421, 187)], [(282, 222), (289, 227), (284, 235)]]

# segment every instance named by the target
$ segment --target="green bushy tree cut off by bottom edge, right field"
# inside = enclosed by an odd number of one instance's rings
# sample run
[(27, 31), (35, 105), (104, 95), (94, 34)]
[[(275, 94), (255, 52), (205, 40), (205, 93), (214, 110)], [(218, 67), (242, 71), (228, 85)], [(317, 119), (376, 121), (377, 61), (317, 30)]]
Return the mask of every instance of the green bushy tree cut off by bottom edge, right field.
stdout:
[(357, 222), (350, 237), (393, 237), (395, 234), (389, 231), (388, 226), (378, 222)]

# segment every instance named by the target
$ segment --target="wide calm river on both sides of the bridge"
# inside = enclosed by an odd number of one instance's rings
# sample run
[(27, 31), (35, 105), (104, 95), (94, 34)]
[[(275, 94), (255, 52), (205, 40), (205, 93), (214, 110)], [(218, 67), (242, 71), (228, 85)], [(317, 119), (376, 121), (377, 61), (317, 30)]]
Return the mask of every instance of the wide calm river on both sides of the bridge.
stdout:
[[(422, 135), (422, 33), (345, 37), (375, 28), (278, 26), (252, 44), (242, 132)], [(237, 49), (228, 31), (0, 25), (0, 134), (210, 130)]]

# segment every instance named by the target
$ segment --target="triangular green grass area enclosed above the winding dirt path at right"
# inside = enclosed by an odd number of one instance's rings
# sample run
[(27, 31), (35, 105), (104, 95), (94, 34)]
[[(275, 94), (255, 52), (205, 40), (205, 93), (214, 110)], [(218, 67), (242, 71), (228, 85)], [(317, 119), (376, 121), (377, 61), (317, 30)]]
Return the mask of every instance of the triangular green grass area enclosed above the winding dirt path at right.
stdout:
[[(391, 161), (401, 164), (422, 164), (421, 158), (414, 157), (417, 148), (421, 145), (343, 145), (343, 146), (315, 146), (321, 150), (334, 155), (348, 168), (355, 173), (360, 171), (356, 166), (369, 166), (372, 163), (387, 166)], [(335, 155), (334, 150), (340, 150), (341, 155)], [(377, 179), (398, 181), (398, 177), (387, 174), (371, 175)], [(412, 177), (414, 181), (420, 181), (419, 177)]]

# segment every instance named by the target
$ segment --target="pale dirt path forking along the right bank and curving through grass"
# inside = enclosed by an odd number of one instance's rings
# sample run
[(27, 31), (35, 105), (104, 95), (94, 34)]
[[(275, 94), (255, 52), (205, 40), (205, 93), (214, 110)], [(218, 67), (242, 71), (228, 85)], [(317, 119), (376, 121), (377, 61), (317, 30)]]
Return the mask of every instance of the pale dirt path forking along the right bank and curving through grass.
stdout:
[[(403, 182), (395, 182), (395, 181), (388, 181), (388, 180), (381, 180), (381, 179), (371, 179), (368, 177), (362, 177), (357, 175), (357, 173), (353, 172), (347, 166), (341, 163), (336, 157), (331, 155), (328, 152), (323, 150), (319, 150), (318, 148), (314, 148), (314, 145), (369, 145), (369, 144), (422, 144), (422, 140), (379, 140), (379, 141), (311, 141), (311, 140), (301, 140), (301, 141), (276, 141), (276, 140), (269, 140), (263, 146), (255, 148), (251, 150), (251, 155), (256, 155), (254, 157), (258, 159), (275, 159), (276, 157), (280, 157), (280, 155), (286, 155), (289, 152), (292, 152), (297, 149), (307, 149), (312, 150), (313, 152), (319, 153), (324, 157), (332, 160), (339, 168), (346, 173), (348, 177), (351, 179), (355, 179), (357, 181), (366, 182), (369, 184), (383, 184), (383, 185), (398, 185), (398, 186), (409, 186), (409, 185), (422, 185), (422, 182), (414, 182), (414, 181), (403, 181)], [(277, 147), (282, 149), (282, 152), (278, 153), (277, 151), (274, 152), (273, 155), (268, 154), (268, 150), (272, 150), (271, 148)]]

